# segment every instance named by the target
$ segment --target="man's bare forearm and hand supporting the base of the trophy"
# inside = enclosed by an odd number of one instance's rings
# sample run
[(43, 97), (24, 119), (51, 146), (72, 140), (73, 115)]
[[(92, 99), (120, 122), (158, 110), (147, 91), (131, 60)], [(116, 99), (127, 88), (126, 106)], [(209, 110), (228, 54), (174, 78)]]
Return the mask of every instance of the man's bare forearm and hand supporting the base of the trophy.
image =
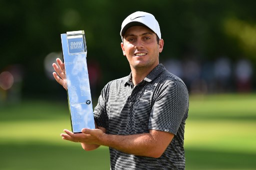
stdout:
[(102, 127), (83, 128), (82, 133), (64, 130), (66, 134), (62, 133), (61, 136), (65, 140), (81, 142), (85, 150), (104, 145), (125, 153), (148, 157), (160, 157), (174, 136), (172, 133), (159, 130), (133, 135), (106, 134), (104, 130)]

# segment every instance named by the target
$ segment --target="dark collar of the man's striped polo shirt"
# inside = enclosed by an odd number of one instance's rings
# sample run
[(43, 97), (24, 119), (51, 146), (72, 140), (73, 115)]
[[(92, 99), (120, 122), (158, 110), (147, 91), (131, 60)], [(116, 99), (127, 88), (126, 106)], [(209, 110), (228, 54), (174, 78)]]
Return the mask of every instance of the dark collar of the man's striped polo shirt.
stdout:
[[(143, 79), (144, 81), (150, 82), (153, 79), (155, 79), (156, 77), (158, 77), (158, 75), (162, 72), (166, 70), (165, 67), (162, 64), (158, 64), (156, 65), (150, 72), (149, 74), (147, 74), (147, 76)], [(126, 78), (124, 79), (124, 85), (128, 83), (128, 84), (132, 84), (131, 82), (131, 72), (128, 76), (126, 76)]]

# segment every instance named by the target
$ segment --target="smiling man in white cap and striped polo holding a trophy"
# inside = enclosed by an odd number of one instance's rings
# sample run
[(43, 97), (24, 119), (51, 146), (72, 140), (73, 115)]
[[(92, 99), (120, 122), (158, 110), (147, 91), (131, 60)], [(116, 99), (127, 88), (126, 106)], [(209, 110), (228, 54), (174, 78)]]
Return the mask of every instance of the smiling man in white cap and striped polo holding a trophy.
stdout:
[[(108, 82), (94, 109), (96, 129), (64, 129), (65, 140), (85, 150), (108, 146), (111, 169), (184, 169), (184, 124), (188, 91), (183, 81), (159, 64), (163, 39), (150, 13), (137, 11), (121, 25), (121, 49), (131, 73)], [(66, 89), (64, 64), (53, 76)]]

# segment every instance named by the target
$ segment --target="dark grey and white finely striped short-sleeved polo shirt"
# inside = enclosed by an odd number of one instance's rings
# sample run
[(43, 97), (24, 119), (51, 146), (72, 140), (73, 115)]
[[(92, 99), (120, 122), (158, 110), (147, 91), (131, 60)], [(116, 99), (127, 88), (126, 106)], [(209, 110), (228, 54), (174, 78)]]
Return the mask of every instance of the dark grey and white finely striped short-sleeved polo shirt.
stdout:
[(108, 82), (94, 109), (94, 119), (106, 133), (131, 135), (149, 129), (174, 134), (159, 158), (136, 156), (109, 148), (114, 169), (184, 169), (184, 125), (188, 91), (184, 82), (158, 64), (140, 83), (131, 74)]

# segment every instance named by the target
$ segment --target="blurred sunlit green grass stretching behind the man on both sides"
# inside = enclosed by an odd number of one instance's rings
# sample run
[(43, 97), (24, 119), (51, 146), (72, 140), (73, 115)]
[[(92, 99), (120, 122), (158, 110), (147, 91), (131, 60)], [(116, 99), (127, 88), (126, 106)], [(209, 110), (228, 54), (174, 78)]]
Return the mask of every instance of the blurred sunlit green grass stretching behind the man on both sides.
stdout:
[[(189, 100), (186, 169), (256, 167), (256, 95), (219, 94)], [(109, 169), (107, 147), (83, 151), (62, 140), (66, 102), (26, 100), (0, 107), (0, 169)]]

